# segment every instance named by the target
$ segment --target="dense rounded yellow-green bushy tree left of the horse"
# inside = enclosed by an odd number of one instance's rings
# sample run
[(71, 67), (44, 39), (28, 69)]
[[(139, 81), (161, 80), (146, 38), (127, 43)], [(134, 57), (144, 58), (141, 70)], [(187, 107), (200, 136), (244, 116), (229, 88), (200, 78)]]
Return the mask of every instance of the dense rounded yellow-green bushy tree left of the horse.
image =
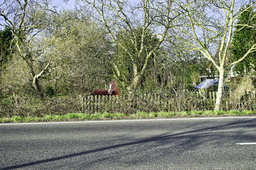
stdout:
[(63, 19), (61, 27), (45, 38), (51, 44), (46, 49), (45, 62), (51, 62), (57, 73), (49, 77), (47, 85), (58, 81), (60, 92), (73, 94), (104, 88), (111, 74), (104, 30), (97, 28), (89, 16), (79, 17), (80, 11), (63, 11), (59, 15)]

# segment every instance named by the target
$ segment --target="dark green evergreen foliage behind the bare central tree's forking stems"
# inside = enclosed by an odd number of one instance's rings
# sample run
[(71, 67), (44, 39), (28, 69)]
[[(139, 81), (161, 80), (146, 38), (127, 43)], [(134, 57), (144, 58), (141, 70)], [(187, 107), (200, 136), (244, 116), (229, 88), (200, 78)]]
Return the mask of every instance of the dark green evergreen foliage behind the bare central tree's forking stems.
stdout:
[[(115, 74), (114, 77), (124, 85), (124, 89), (131, 84), (131, 81), (134, 78), (134, 64), (138, 68), (138, 71), (140, 71), (145, 64), (147, 53), (152, 50), (159, 41), (159, 39), (153, 35), (152, 31), (146, 30), (143, 41), (143, 50), (141, 51), (141, 56), (138, 57), (138, 53), (141, 49), (142, 31), (143, 29), (140, 27), (133, 29), (132, 31), (119, 31), (116, 38), (119, 43), (113, 48), (113, 63), (118, 69), (113, 69), (113, 72)], [(129, 52), (124, 50), (124, 46), (126, 49), (129, 49)], [(150, 65), (153, 65), (154, 62), (156, 62), (156, 54), (157, 52), (148, 60), (147, 71), (150, 71)], [(118, 70), (119, 73), (116, 73), (116, 70)], [(152, 75), (147, 78), (150, 77), (152, 77)], [(142, 82), (138, 86), (141, 86), (145, 79), (142, 79), (141, 81)]]

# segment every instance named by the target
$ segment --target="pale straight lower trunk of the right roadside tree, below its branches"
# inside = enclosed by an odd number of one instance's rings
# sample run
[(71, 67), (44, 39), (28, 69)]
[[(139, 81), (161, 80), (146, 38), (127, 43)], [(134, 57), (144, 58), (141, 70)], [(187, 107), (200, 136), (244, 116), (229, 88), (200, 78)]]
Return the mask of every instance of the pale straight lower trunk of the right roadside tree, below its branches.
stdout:
[(224, 73), (225, 73), (225, 69), (224, 69), (224, 67), (221, 67), (220, 68), (220, 78), (219, 78), (218, 92), (217, 92), (214, 111), (220, 111), (220, 109), (221, 109), (223, 89), (224, 89), (224, 85), (225, 85), (225, 83), (224, 83), (224, 80), (225, 80)]

